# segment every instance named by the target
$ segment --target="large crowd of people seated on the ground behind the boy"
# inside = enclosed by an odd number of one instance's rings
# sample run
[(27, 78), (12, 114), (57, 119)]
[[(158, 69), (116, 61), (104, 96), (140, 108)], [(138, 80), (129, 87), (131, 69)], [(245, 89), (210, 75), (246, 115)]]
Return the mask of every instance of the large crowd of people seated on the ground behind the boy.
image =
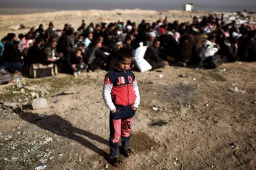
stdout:
[(40, 24), (20, 35), (8, 33), (0, 42), (0, 75), (13, 74), (24, 67), (40, 63), (57, 64), (59, 70), (79, 75), (81, 71), (109, 70), (114, 67), (119, 48), (131, 51), (139, 43), (147, 46), (144, 59), (158, 69), (177, 62), (204, 67), (210, 55), (223, 62), (256, 61), (256, 26), (235, 21), (226, 23), (218, 15), (194, 17), (192, 23), (168, 22), (168, 18), (138, 25), (132, 20), (90, 23), (85, 20), (77, 30), (66, 23), (57, 29)]

